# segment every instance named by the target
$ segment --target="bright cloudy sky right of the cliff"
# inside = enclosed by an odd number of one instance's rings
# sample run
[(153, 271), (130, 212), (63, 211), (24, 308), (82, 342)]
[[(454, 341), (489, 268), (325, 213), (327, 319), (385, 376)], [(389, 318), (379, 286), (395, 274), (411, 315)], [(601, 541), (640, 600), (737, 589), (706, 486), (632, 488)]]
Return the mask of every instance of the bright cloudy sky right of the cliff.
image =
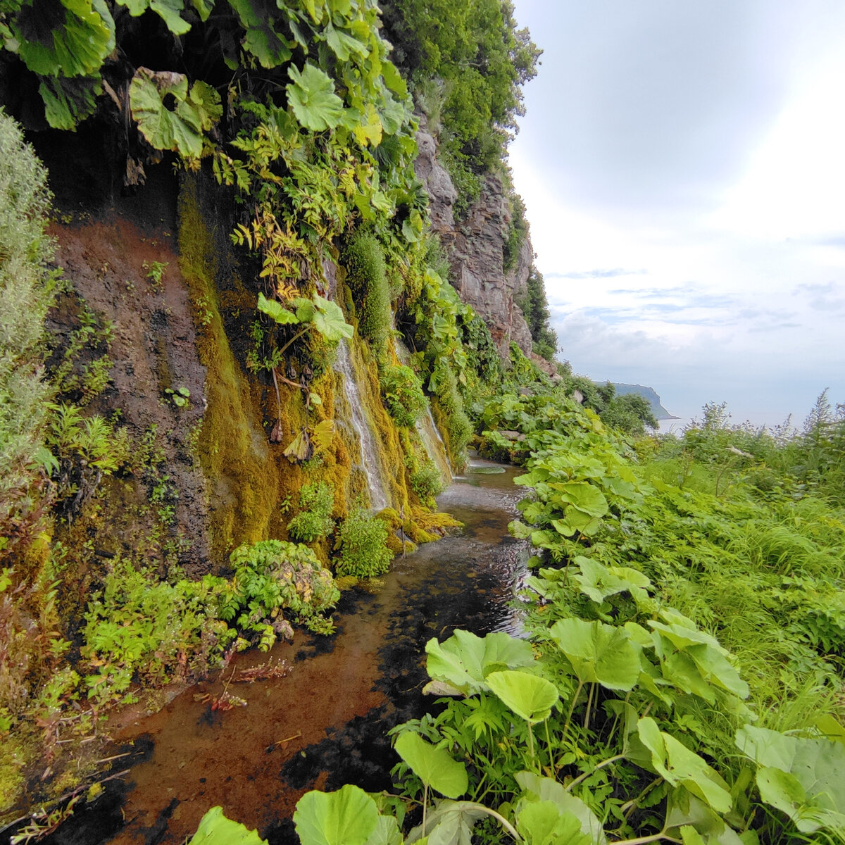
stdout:
[(561, 360), (669, 412), (845, 402), (845, 3), (515, 0), (510, 147)]

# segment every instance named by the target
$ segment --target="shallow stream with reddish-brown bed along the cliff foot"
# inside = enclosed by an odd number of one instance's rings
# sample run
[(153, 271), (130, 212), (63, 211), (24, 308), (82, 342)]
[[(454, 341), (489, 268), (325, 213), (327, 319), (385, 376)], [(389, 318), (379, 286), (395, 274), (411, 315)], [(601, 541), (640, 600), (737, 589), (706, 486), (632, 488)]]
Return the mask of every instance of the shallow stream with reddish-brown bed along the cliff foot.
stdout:
[(230, 667), (116, 732), (131, 752), (117, 767), (128, 773), (50, 842), (184, 842), (215, 804), (270, 845), (296, 842), (290, 819), (308, 789), (389, 788), (398, 758), (385, 734), (432, 701), (422, 695), (426, 641), (457, 627), (479, 635), (518, 629), (513, 599), (527, 551), (507, 525), (522, 494), (513, 485), (519, 472), (472, 461), (439, 497), (463, 529), (395, 559), (369, 591), (346, 591), (334, 635), (297, 631), (269, 655), (237, 657), (238, 669), (268, 657), (289, 667), (281, 678), (232, 684), (247, 706), (210, 709)]

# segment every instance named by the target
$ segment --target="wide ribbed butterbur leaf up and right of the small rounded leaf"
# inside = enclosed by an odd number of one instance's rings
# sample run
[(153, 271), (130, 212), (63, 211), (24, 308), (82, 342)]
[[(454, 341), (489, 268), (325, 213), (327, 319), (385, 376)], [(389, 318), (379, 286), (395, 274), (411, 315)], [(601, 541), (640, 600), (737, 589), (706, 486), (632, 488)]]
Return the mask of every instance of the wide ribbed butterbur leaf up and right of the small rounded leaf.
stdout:
[(640, 655), (624, 628), (583, 619), (560, 619), (549, 629), (553, 641), (582, 682), (608, 690), (633, 690), (640, 677)]

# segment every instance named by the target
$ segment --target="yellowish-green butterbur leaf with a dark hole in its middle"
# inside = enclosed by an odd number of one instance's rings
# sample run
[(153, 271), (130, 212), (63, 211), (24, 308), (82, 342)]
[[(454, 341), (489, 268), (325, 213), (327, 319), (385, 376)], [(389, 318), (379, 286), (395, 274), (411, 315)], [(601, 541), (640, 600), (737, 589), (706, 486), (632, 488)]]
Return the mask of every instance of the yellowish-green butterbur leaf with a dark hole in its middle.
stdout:
[(156, 150), (189, 158), (203, 151), (203, 130), (222, 114), (220, 95), (204, 82), (188, 93), (188, 78), (169, 71), (138, 68), (129, 85), (129, 103), (138, 128)]

